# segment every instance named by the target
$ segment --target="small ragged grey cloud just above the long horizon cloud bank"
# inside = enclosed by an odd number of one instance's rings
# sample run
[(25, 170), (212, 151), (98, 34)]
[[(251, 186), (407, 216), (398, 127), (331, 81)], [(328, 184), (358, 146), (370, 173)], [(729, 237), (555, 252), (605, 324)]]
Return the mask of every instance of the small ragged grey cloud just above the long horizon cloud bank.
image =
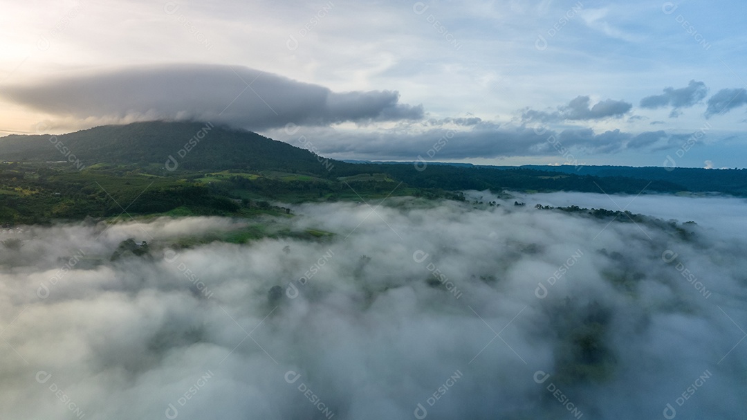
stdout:
[(589, 108), (590, 102), (589, 96), (577, 96), (571, 99), (568, 105), (559, 106), (557, 111), (536, 111), (527, 108), (521, 118), (524, 122), (539, 121), (542, 123), (557, 123), (565, 120), (601, 120), (622, 117), (633, 107), (628, 102), (605, 99)]

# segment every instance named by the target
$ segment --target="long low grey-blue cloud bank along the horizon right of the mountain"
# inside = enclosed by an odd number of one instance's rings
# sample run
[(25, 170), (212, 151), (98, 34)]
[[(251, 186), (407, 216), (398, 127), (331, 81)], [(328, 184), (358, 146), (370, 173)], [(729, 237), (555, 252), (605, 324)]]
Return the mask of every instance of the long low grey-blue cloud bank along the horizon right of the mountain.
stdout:
[[(448, 119), (447, 119), (448, 120)], [(331, 128), (306, 128), (294, 135), (276, 129), (263, 132), (270, 138), (295, 146), (312, 140), (318, 151), (331, 158), (414, 161), (421, 156), (429, 161), (514, 156), (558, 156), (561, 145), (576, 151), (611, 153), (623, 149), (642, 149), (666, 138), (666, 132), (633, 134), (620, 129), (595, 132), (593, 129), (552, 130), (527, 126), (501, 126), (480, 121), (468, 126), (429, 120), (424, 124), (397, 126), (371, 131)], [(303, 142), (298, 140), (303, 135)]]

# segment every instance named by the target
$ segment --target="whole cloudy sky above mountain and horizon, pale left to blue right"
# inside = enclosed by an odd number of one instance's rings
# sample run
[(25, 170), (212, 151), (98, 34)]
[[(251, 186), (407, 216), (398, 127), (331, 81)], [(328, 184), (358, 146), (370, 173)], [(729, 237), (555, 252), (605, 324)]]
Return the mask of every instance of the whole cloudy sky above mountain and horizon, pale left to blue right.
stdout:
[(3, 134), (207, 120), (341, 159), (745, 166), (741, 1), (3, 10)]

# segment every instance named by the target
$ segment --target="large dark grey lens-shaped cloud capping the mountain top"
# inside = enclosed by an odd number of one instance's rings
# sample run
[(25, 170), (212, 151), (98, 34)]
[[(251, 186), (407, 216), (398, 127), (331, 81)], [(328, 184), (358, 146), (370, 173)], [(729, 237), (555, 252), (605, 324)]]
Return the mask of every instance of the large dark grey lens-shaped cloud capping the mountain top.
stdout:
[(16, 102), (63, 117), (105, 121), (206, 120), (245, 129), (287, 123), (419, 120), (422, 105), (391, 90), (335, 93), (247, 67), (180, 64), (134, 67), (7, 87)]

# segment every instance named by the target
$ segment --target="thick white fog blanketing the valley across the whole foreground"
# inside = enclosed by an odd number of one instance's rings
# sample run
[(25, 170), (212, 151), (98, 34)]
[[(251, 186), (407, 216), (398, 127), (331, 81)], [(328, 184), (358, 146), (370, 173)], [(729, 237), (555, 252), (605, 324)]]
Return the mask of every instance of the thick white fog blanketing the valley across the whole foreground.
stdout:
[(743, 416), (743, 200), (468, 197), (5, 229), (0, 417)]

